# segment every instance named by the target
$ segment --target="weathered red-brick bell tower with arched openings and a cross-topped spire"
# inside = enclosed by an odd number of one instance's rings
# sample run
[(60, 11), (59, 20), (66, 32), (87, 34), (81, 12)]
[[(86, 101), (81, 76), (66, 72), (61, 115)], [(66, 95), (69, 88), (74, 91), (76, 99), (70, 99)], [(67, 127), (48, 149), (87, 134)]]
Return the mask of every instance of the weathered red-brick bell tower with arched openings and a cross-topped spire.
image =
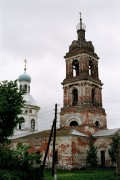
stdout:
[(69, 46), (64, 56), (66, 78), (63, 80), (63, 108), (60, 127), (74, 126), (82, 132), (93, 134), (106, 129), (106, 113), (102, 106), (102, 82), (99, 79), (98, 60), (91, 41), (85, 39), (86, 27), (77, 25), (77, 40)]

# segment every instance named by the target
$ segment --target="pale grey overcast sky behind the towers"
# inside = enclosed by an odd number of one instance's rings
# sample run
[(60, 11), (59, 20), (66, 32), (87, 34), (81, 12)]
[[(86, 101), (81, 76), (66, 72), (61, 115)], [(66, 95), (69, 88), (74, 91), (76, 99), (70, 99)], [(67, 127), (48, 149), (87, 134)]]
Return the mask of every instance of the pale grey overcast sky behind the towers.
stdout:
[(50, 128), (54, 104), (63, 103), (61, 82), (69, 45), (77, 39), (79, 12), (100, 57), (103, 107), (108, 128), (120, 127), (120, 1), (0, 0), (0, 80), (32, 77), (31, 94), (41, 107), (39, 129)]

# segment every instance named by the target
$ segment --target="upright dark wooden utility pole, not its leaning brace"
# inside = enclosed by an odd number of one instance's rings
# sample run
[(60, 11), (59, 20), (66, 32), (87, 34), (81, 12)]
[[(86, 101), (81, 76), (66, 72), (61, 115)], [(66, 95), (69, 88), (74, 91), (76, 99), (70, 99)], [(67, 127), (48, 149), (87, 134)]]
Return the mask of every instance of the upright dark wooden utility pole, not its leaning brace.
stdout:
[(52, 159), (52, 176), (54, 176), (54, 180), (57, 180), (57, 160), (56, 160), (56, 151), (55, 151), (56, 123), (57, 123), (57, 104), (55, 104), (54, 135), (53, 135), (53, 159)]

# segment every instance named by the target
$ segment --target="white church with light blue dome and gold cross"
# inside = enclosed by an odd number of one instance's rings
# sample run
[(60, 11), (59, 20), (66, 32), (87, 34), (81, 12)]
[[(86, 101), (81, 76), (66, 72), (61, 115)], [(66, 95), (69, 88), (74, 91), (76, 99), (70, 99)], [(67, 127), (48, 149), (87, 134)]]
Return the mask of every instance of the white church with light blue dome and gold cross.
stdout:
[(17, 138), (38, 131), (40, 107), (37, 105), (35, 99), (30, 94), (31, 77), (26, 73), (26, 60), (24, 62), (24, 73), (18, 77), (18, 82), (19, 90), (24, 91), (23, 99), (25, 103), (22, 109), (22, 114), (19, 115), (21, 122), (18, 124), (12, 138)]

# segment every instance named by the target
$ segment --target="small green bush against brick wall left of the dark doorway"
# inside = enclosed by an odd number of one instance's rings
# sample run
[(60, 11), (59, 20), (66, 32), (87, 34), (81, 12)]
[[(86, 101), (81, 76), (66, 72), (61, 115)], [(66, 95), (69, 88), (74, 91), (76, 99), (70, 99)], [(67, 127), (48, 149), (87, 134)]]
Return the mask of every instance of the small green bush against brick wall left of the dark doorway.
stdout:
[(98, 158), (97, 158), (97, 148), (93, 144), (93, 140), (91, 139), (89, 144), (89, 150), (87, 151), (87, 163), (89, 163), (91, 166), (95, 167), (98, 164)]

